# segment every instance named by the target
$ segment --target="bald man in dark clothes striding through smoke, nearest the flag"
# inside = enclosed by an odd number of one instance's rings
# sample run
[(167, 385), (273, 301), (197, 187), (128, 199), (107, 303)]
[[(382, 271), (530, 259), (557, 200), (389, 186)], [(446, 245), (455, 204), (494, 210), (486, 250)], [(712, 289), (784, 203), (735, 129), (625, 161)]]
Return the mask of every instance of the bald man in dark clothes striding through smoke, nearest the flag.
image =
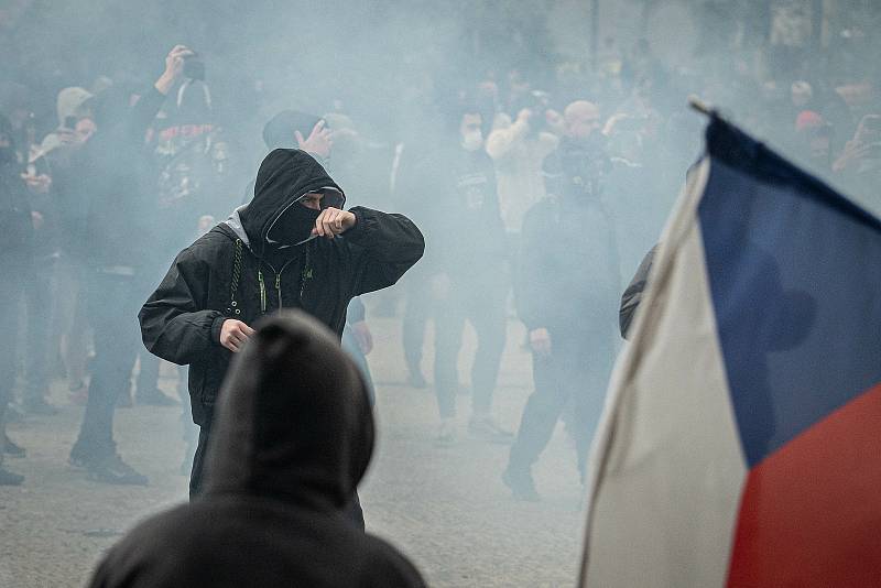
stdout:
[(598, 110), (573, 102), (565, 123), (566, 135), (544, 165), (548, 199), (533, 206), (523, 222), (514, 285), (533, 350), (535, 391), (502, 478), (523, 500), (539, 499), (531, 468), (561, 415), (568, 418), (584, 479), (613, 360), (619, 270), (600, 199), (607, 156), (596, 134)]

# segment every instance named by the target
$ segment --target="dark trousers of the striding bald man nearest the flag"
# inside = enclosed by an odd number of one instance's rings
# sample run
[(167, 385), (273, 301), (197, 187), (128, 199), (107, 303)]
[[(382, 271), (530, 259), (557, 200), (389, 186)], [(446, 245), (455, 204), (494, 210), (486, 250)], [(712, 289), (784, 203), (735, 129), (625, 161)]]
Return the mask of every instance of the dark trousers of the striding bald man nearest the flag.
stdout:
[(533, 353), (535, 391), (523, 409), (516, 440), (511, 446), (510, 467), (530, 468), (547, 446), (557, 420), (567, 422), (585, 475), (590, 442), (606, 399), (613, 363), (612, 333), (559, 336), (551, 334), (552, 351)]

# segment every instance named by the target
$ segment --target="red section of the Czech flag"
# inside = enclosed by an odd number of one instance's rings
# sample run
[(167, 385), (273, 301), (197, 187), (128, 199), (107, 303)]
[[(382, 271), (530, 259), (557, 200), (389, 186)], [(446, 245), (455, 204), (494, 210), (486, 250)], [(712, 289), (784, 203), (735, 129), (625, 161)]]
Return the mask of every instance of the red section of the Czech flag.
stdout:
[(752, 469), (728, 586), (881, 586), (881, 384)]

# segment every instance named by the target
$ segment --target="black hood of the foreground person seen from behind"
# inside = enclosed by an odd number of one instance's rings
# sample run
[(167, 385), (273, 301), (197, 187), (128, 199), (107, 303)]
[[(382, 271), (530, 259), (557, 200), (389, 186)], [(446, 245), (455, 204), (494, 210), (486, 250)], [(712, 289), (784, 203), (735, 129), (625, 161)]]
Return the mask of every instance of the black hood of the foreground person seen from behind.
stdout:
[(206, 496), (341, 510), (373, 451), (358, 368), (324, 325), (298, 311), (259, 324), (233, 360), (211, 428)]

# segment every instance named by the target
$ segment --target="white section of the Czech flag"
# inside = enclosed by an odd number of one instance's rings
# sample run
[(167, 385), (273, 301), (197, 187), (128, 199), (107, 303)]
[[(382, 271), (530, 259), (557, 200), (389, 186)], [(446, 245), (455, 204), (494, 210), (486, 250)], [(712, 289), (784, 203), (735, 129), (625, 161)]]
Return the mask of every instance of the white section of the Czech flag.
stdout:
[(594, 445), (581, 586), (724, 586), (747, 468), (692, 174), (662, 238)]

